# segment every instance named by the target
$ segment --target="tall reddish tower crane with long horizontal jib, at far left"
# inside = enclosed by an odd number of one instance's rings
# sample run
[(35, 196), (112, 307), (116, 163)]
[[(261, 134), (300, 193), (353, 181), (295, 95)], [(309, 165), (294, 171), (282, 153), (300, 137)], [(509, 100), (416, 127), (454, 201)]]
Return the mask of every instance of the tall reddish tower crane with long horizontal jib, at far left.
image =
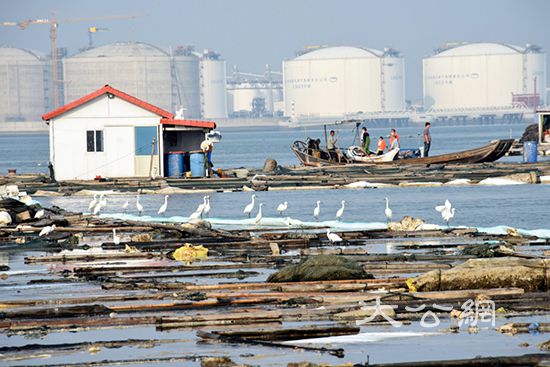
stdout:
[(78, 23), (78, 22), (88, 22), (92, 20), (114, 20), (114, 19), (134, 19), (139, 15), (108, 15), (100, 17), (90, 17), (90, 18), (62, 18), (56, 19), (55, 15), (52, 15), (49, 19), (26, 19), (20, 22), (0, 22), (0, 26), (5, 27), (19, 27), (21, 30), (27, 29), (32, 24), (48, 24), (50, 26), (50, 47), (51, 47), (51, 67), (52, 67), (52, 104), (53, 108), (59, 107), (59, 101), (61, 100), (59, 96), (59, 61), (58, 61), (58, 52), (57, 52), (57, 28), (59, 24), (66, 23)]

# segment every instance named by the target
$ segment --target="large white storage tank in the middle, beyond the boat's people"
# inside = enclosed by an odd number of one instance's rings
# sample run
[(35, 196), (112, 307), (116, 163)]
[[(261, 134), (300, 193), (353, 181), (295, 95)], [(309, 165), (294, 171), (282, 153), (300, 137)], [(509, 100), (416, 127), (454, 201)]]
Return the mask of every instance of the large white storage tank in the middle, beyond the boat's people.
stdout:
[(285, 115), (337, 117), (405, 110), (405, 70), (397, 51), (326, 47), (283, 61)]

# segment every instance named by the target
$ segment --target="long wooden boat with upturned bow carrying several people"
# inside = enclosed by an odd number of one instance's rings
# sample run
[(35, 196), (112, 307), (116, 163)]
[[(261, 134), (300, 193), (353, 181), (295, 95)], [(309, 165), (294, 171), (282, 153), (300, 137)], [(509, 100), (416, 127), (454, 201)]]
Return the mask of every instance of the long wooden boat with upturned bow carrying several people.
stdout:
[(460, 152), (435, 155), (432, 157), (396, 159), (393, 161), (370, 161), (370, 162), (354, 162), (347, 157), (343, 151), (339, 153), (339, 160), (331, 160), (326, 151), (308, 149), (306, 143), (295, 141), (291, 148), (300, 162), (305, 166), (324, 166), (324, 165), (339, 165), (339, 164), (446, 164), (446, 163), (485, 163), (494, 162), (504, 156), (512, 146), (513, 139), (494, 140), (487, 145), (479, 148), (464, 150)]

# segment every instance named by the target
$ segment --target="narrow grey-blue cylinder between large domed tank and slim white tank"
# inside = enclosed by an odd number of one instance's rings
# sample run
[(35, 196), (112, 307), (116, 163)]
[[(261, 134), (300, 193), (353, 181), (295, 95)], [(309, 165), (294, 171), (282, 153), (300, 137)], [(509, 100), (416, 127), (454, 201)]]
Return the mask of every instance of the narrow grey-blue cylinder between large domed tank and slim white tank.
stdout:
[(185, 118), (199, 118), (200, 101), (200, 65), (199, 57), (185, 49), (176, 49), (173, 62), (174, 108), (183, 107)]

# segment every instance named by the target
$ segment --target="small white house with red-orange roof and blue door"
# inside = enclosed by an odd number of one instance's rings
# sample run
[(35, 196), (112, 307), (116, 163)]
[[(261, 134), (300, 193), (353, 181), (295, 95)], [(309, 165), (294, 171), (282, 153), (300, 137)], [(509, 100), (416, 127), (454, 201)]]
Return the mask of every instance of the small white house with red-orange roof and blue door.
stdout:
[(216, 126), (175, 119), (108, 85), (42, 119), (50, 127), (50, 161), (57, 180), (164, 176), (165, 154), (199, 150)]

